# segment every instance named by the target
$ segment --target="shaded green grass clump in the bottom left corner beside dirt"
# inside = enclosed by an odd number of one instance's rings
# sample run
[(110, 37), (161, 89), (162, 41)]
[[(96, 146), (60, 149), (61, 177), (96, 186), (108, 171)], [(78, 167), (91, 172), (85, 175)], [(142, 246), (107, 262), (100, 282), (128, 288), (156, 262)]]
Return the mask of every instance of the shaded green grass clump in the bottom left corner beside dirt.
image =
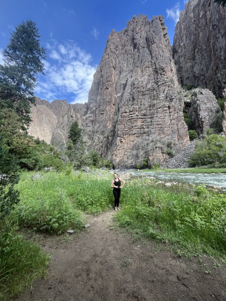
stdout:
[(40, 246), (28, 242), (22, 235), (0, 230), (0, 299), (8, 301), (45, 275), (50, 260)]

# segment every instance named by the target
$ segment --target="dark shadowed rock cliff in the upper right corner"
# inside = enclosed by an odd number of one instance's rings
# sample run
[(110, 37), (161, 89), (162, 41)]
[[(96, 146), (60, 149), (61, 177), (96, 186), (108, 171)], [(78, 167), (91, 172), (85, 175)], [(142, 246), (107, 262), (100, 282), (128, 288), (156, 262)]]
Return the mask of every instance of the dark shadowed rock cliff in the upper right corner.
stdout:
[(175, 27), (173, 58), (181, 85), (226, 86), (226, 8), (214, 0), (190, 0)]

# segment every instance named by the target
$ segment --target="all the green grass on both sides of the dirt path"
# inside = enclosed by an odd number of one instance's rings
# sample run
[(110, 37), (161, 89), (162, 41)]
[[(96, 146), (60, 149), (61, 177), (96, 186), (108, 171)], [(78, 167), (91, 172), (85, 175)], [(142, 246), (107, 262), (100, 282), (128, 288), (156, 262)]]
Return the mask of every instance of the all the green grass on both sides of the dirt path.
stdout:
[[(50, 260), (40, 247), (24, 240), (20, 228), (45, 234), (82, 230), (83, 212), (99, 214), (114, 207), (108, 171), (23, 172), (17, 188), (20, 203), (0, 232), (0, 296), (14, 296), (33, 279), (42, 277)], [(199, 255), (226, 260), (226, 196), (202, 185), (191, 191), (172, 193), (146, 180), (127, 181), (121, 191), (121, 210), (115, 226), (132, 234), (132, 240), (166, 243), (178, 255)], [(14, 229), (14, 230), (11, 230)], [(22, 243), (24, 241), (24, 243)], [(5, 299), (6, 300), (6, 299)]]

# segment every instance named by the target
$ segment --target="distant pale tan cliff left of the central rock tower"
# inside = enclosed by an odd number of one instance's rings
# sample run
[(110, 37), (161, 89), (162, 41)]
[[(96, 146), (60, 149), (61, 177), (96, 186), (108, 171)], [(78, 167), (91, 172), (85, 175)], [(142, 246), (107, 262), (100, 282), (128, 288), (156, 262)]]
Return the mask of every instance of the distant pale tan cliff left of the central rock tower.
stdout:
[(36, 106), (31, 107), (32, 123), (28, 133), (47, 143), (64, 144), (67, 141), (71, 123), (77, 121), (84, 127), (86, 104), (68, 104), (66, 100), (36, 98)]

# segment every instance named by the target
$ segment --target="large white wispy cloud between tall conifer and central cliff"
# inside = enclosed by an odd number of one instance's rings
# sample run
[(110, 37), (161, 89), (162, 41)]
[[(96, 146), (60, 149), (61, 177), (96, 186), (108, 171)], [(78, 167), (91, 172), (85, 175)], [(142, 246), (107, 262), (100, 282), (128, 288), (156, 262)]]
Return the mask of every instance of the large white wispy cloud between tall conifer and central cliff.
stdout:
[(97, 67), (91, 64), (91, 55), (73, 41), (48, 44), (47, 49), (46, 76), (40, 77), (36, 94), (48, 101), (66, 98), (71, 103), (87, 102)]

